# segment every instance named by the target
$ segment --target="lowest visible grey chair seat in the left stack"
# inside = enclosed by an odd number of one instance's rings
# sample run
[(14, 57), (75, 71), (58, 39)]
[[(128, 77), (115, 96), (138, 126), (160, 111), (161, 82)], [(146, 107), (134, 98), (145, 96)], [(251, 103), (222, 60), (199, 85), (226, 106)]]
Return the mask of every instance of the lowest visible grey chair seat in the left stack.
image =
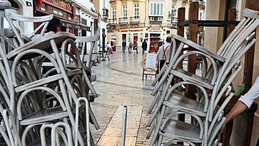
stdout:
[(67, 111), (63, 111), (60, 106), (36, 111), (31, 114), (24, 116), (20, 120), (21, 125), (29, 125), (41, 122), (53, 121), (56, 119), (67, 117)]

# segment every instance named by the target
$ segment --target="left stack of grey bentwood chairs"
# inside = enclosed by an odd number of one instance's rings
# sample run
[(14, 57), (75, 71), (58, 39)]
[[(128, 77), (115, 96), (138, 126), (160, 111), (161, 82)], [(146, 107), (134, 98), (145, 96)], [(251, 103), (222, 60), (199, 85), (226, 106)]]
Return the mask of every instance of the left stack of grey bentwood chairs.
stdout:
[[(24, 17), (8, 13), (10, 8), (9, 1), (0, 1), (0, 20), (10, 25), (4, 28), (1, 21), (0, 28), (0, 132), (6, 144), (94, 145), (89, 124), (99, 125), (89, 99), (98, 96), (96, 76), (90, 61), (82, 64), (75, 41), (91, 43), (91, 60), (99, 36), (45, 33), (53, 15)], [(40, 34), (26, 35), (20, 22), (42, 22)]]

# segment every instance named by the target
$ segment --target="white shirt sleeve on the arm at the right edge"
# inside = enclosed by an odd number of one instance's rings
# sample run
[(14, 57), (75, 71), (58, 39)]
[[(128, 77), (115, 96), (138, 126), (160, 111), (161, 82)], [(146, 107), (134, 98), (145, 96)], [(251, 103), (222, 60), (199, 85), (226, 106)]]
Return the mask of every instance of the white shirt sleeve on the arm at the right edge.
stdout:
[(238, 101), (242, 101), (248, 108), (251, 107), (255, 99), (259, 96), (259, 76), (255, 80), (255, 83), (251, 89), (243, 96), (241, 96)]

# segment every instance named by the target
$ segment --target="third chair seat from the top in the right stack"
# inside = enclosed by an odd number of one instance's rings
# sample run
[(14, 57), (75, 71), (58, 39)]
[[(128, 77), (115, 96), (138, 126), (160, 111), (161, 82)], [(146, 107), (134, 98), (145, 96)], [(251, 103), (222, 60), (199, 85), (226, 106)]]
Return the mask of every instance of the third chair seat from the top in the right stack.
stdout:
[(177, 94), (172, 93), (167, 101), (164, 101), (169, 107), (175, 108), (179, 111), (184, 111), (190, 114), (195, 114), (198, 116), (205, 117), (206, 113), (203, 112), (204, 106), (199, 102), (179, 96)]

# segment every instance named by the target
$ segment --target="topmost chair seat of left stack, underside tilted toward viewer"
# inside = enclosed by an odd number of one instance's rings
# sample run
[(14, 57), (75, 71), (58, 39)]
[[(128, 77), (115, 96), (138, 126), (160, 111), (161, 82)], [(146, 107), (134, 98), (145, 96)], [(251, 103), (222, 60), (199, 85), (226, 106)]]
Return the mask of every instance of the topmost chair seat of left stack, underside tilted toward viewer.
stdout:
[[(28, 49), (40, 49), (52, 53), (53, 51), (51, 48), (50, 40), (54, 40), (57, 47), (60, 48), (62, 42), (64, 42), (64, 40), (68, 38), (75, 40), (75, 35), (68, 32), (48, 33), (39, 39), (32, 40), (24, 45), (21, 45), (19, 48), (12, 50), (10, 53), (7, 54), (7, 57), (8, 59), (13, 60), (16, 55)], [(34, 58), (36, 56), (39, 56), (39, 54), (30, 53), (28, 55), (25, 55), (22, 59)]]

